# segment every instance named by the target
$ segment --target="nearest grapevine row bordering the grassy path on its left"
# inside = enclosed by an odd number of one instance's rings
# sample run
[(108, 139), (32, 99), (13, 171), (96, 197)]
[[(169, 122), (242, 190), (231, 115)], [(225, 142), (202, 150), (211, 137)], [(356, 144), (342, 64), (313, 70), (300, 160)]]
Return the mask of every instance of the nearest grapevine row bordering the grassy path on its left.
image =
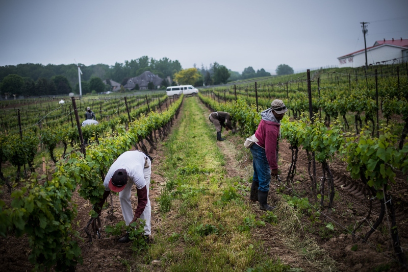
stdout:
[(58, 161), (53, 178), (44, 184), (34, 174), (22, 189), (13, 191), (10, 206), (0, 201), (0, 235), (27, 234), (29, 260), (38, 270), (52, 266), (61, 271), (73, 270), (82, 258), (76, 238), (79, 234), (72, 228), (77, 214), (76, 205), (71, 203), (72, 193), (78, 188), (84, 199), (92, 204), (98, 202), (104, 192), (104, 173), (113, 161), (155, 130), (166, 135), (182, 101), (175, 101), (162, 113), (142, 114), (127, 131), (120, 126), (116, 135), (88, 146), (86, 157), (74, 152), (66, 161)]

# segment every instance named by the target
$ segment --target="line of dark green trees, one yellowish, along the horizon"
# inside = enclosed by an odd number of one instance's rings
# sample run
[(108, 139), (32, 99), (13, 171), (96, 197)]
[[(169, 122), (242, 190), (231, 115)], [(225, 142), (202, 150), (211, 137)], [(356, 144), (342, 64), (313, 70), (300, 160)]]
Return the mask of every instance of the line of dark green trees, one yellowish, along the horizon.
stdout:
[[(284, 65), (284, 67), (281, 67)], [(98, 93), (110, 90), (109, 82), (113, 80), (125, 85), (127, 80), (140, 76), (145, 71), (151, 71), (162, 79), (170, 77), (171, 85), (191, 84), (194, 86), (218, 85), (240, 79), (271, 76), (269, 72), (261, 68), (255, 71), (251, 66), (244, 69), (242, 74), (227, 69), (217, 62), (210, 64), (210, 67), (182, 69), (178, 60), (170, 60), (166, 57), (156, 60), (143, 56), (124, 63), (116, 62), (115, 65), (106, 64), (83, 65), (79, 64), (83, 75), (81, 76), (82, 93), (87, 94), (92, 91)], [(287, 66), (287, 67), (286, 67)], [(281, 64), (276, 69), (285, 70), (283, 74), (293, 73), (293, 69), (288, 65)], [(107, 80), (105, 85), (102, 80)], [(170, 83), (163, 80), (162, 85), (167, 87)], [(72, 88), (73, 87), (73, 88)], [(0, 93), (7, 95), (55, 95), (68, 94), (74, 91), (79, 93), (78, 67), (75, 64), (34, 64), (25, 63), (18, 65), (0, 66)]]

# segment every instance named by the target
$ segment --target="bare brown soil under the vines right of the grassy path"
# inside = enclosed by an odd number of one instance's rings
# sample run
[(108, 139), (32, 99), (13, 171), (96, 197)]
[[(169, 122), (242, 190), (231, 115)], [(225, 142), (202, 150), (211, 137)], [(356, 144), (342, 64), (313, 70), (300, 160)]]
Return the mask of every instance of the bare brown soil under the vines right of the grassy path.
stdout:
[[(223, 150), (225, 158), (230, 166), (226, 166), (228, 174), (239, 174), (241, 178), (248, 180), (248, 176), (252, 175), (252, 160), (244, 156), (236, 160), (232, 152), (238, 154), (238, 150), (242, 149), (243, 138), (236, 135), (227, 135), (227, 141), (218, 142), (218, 145)], [(229, 143), (228, 143), (229, 142)], [(286, 180), (286, 175), (292, 159), (289, 144), (285, 140), (280, 141), (279, 150), (279, 169), (281, 169), (281, 179)], [(235, 166), (239, 169), (233, 169)], [(308, 174), (308, 159), (304, 151), (299, 150), (297, 160), (297, 172), (294, 177), (295, 182), (289, 183), (286, 187), (278, 182), (271, 182), (271, 190), (269, 191), (270, 205), (276, 205), (276, 201), (282, 201), (277, 197), (275, 190), (283, 190), (283, 193), (294, 196), (309, 197), (309, 202), (313, 203), (311, 197), (311, 182)], [(322, 166), (316, 163), (316, 175), (318, 183), (322, 177)], [(336, 267), (340, 271), (374, 271), (374, 269), (384, 269), (380, 271), (402, 271), (403, 268), (396, 264), (394, 258), (393, 248), (391, 246), (391, 239), (387, 227), (386, 216), (382, 221), (377, 231), (375, 231), (368, 239), (367, 243), (363, 243), (362, 238), (370, 230), (370, 225), (374, 224), (378, 218), (380, 204), (378, 200), (374, 200), (373, 208), (369, 224), (363, 226), (356, 231), (356, 236), (353, 238), (352, 231), (357, 221), (363, 219), (369, 211), (369, 201), (364, 195), (364, 188), (361, 181), (351, 179), (349, 172), (346, 170), (346, 163), (341, 158), (336, 158), (330, 164), (330, 170), (334, 176), (336, 196), (334, 200), (334, 211), (328, 211), (327, 203), (324, 208), (319, 208), (321, 215), (318, 221), (313, 222), (310, 218), (311, 213), (305, 213), (300, 218), (299, 237), (313, 237), (321, 249), (328, 253), (328, 255), (336, 261)], [(249, 169), (249, 170), (248, 170)], [(242, 175), (243, 174), (243, 175)], [(246, 175), (245, 175), (246, 174)], [(401, 239), (401, 245), (405, 248), (408, 242), (408, 226), (406, 209), (408, 203), (406, 201), (406, 176), (397, 176), (396, 184), (391, 186), (390, 193), (393, 196), (393, 201), (396, 207), (397, 226)], [(249, 184), (250, 186), (250, 184)], [(326, 193), (327, 194), (327, 193)], [(246, 196), (249, 202), (249, 193)], [(320, 199), (318, 200), (320, 202)], [(253, 205), (254, 212), (260, 211), (257, 205)], [(312, 213), (315, 212), (311, 207)], [(325, 216), (326, 215), (326, 216)], [(389, 218), (390, 220), (390, 218)], [(328, 222), (334, 225), (334, 231), (329, 231), (325, 226)], [(273, 232), (268, 228), (258, 229), (256, 237), (265, 240), (265, 245), (269, 248), (271, 255), (276, 254), (285, 262), (294, 266), (297, 263), (306, 271), (310, 269), (309, 263), (299, 258), (297, 253), (286, 250), (282, 244), (273, 239)], [(353, 246), (356, 245), (356, 250)], [(353, 248), (353, 249), (352, 249)], [(287, 253), (287, 254), (283, 254)], [(295, 266), (296, 267), (296, 266)], [(389, 267), (388, 269), (386, 269)]]

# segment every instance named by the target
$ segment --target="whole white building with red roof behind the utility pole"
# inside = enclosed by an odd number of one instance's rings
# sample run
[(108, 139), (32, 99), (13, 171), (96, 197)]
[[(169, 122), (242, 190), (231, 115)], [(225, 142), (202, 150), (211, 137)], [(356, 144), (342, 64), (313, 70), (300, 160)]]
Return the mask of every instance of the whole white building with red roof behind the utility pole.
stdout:
[[(366, 57), (362, 50), (338, 57), (339, 67), (360, 67), (366, 64)], [(392, 39), (376, 41), (367, 47), (367, 64), (392, 64), (408, 61), (408, 39)]]

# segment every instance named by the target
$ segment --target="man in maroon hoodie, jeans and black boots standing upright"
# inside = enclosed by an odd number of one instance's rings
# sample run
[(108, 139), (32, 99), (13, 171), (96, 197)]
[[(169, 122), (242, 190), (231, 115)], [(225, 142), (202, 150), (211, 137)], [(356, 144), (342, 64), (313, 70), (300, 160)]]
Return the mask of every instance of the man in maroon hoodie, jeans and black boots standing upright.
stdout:
[(271, 107), (261, 112), (262, 120), (255, 132), (258, 142), (251, 146), (253, 177), (250, 192), (251, 201), (259, 201), (260, 209), (271, 211), (268, 205), (268, 191), (271, 176), (277, 177), (278, 144), (281, 130), (280, 121), (288, 111), (282, 100), (274, 100)]

